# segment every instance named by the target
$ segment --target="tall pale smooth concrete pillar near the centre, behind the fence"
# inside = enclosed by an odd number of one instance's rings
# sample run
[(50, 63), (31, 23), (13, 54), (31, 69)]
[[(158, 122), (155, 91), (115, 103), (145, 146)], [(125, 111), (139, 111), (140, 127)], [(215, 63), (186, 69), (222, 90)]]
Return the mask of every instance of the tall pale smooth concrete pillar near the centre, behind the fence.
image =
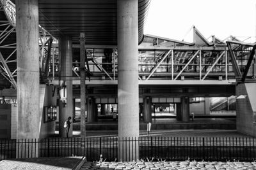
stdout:
[[(117, 38), (118, 137), (138, 139), (138, 0), (117, 1)], [(139, 158), (138, 143), (121, 144), (119, 150), (119, 159), (129, 161)]]

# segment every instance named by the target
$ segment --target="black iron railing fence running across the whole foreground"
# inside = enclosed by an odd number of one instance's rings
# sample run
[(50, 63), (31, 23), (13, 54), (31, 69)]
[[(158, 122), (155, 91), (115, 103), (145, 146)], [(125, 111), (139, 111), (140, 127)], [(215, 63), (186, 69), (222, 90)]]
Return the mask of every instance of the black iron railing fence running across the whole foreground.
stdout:
[[(239, 160), (256, 158), (255, 138), (47, 138), (0, 140), (0, 160), (24, 157), (86, 156), (88, 160), (118, 160), (118, 153), (138, 147), (133, 160)], [(129, 145), (135, 143), (135, 145)], [(136, 146), (136, 144), (138, 144)], [(129, 149), (127, 149), (129, 147)], [(133, 148), (132, 148), (133, 150)], [(136, 155), (136, 154), (135, 154)]]

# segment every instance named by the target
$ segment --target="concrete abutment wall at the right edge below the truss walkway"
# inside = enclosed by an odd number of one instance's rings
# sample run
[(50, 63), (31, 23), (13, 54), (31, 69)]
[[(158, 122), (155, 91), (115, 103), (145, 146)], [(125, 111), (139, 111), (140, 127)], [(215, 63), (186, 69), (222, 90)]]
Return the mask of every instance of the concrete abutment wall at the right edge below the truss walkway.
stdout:
[(256, 136), (255, 89), (256, 83), (240, 83), (236, 86), (236, 96), (246, 96), (245, 99), (236, 99), (237, 132), (251, 136)]

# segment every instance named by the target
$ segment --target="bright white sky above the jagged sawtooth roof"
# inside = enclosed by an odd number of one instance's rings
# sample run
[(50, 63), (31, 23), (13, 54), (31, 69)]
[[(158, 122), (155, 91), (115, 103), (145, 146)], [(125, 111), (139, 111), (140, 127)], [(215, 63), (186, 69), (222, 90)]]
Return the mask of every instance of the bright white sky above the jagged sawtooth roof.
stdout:
[[(144, 26), (144, 34), (182, 40), (192, 25), (209, 38), (240, 40), (256, 33), (255, 0), (152, 0)], [(191, 41), (192, 32), (185, 41)]]

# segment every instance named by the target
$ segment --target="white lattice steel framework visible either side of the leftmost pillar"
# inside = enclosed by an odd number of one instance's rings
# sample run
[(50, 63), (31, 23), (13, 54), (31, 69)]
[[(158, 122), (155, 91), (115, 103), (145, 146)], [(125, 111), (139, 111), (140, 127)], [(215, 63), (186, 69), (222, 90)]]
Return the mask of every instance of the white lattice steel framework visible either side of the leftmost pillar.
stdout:
[[(16, 89), (17, 76), (17, 57), (16, 57), (16, 11), (15, 4), (10, 0), (0, 0), (0, 9), (4, 11), (4, 16), (0, 20), (0, 67), (3, 71), (0, 73), (12, 83), (13, 88)], [(38, 45), (40, 46), (40, 76), (48, 76), (49, 60), (51, 58), (52, 36), (43, 27), (39, 27)], [(14, 35), (13, 35), (14, 34)], [(10, 51), (12, 52), (6, 52)], [(14, 64), (13, 64), (14, 63)]]

